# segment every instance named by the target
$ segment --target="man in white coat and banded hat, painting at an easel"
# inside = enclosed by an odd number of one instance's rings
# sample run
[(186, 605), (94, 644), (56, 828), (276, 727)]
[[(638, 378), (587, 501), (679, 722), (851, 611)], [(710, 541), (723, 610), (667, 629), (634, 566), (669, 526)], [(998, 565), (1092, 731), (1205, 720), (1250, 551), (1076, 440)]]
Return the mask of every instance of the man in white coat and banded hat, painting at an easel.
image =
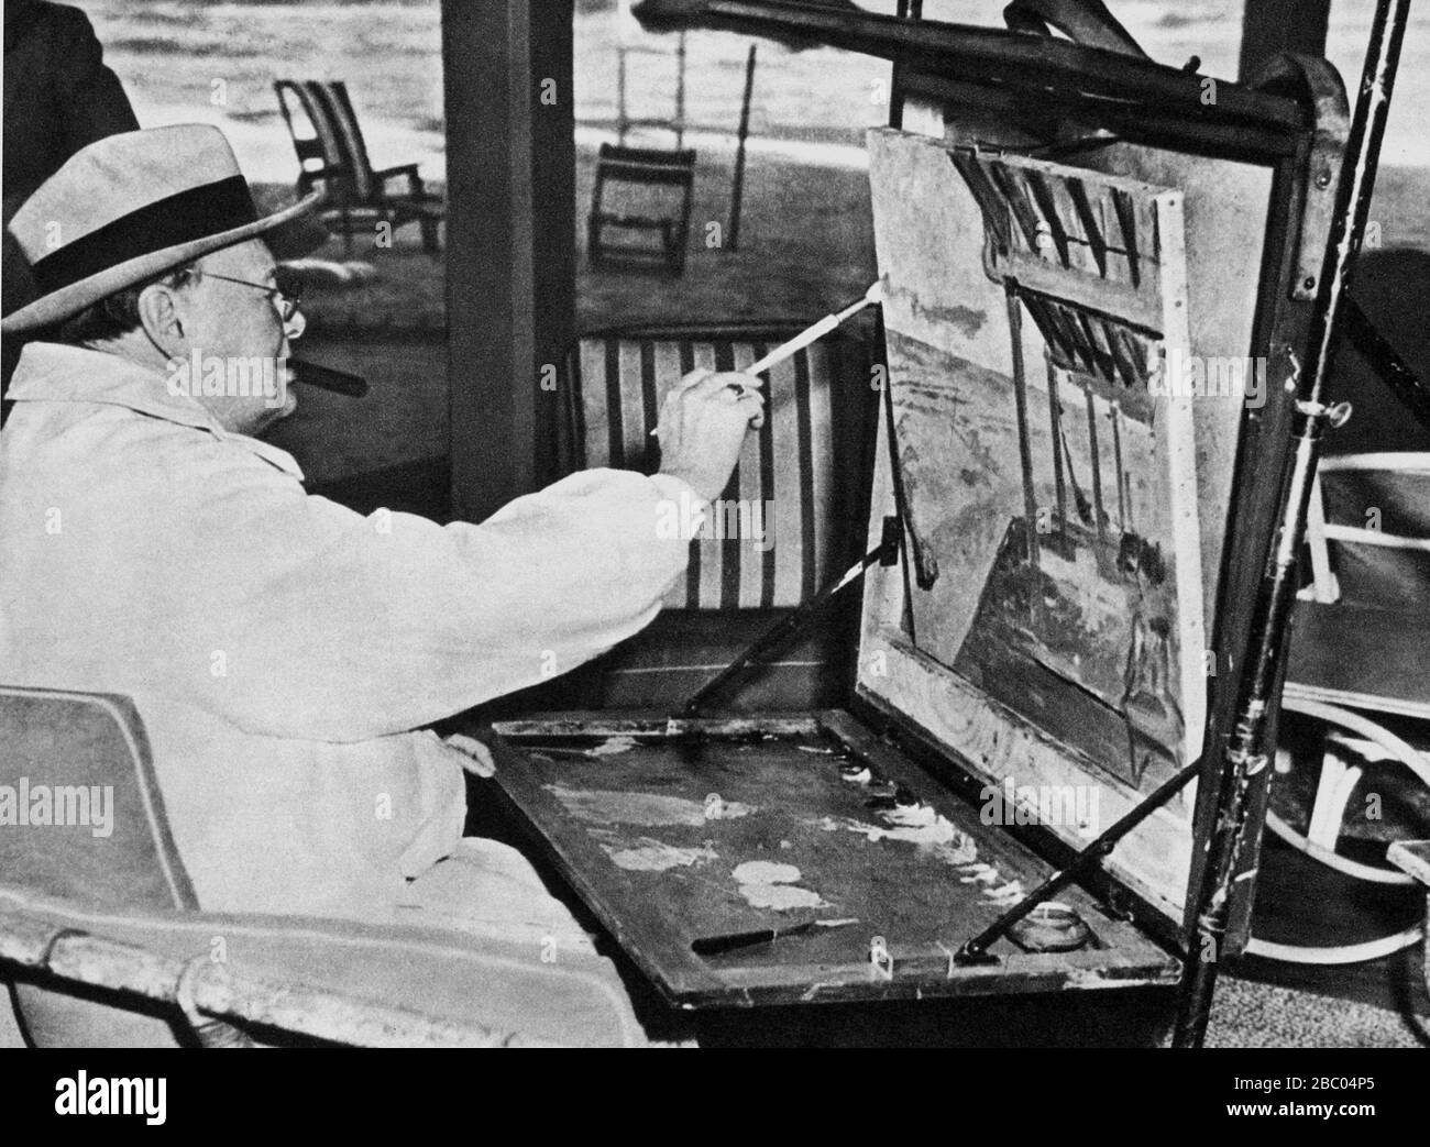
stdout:
[[(513, 850), (460, 840), (483, 765), (420, 729), (646, 625), (688, 553), (662, 502), (721, 492), (761, 399), (689, 375), (659, 473), (482, 525), (309, 496), (253, 435), (293, 408), (302, 329), (265, 239), (310, 206), (257, 217), (223, 134), (174, 126), (80, 150), (16, 213), (40, 295), (4, 330), (40, 338), (0, 433), (4, 678), (133, 696), (206, 910), (575, 935)], [(255, 360), (276, 388), (227, 385)]]

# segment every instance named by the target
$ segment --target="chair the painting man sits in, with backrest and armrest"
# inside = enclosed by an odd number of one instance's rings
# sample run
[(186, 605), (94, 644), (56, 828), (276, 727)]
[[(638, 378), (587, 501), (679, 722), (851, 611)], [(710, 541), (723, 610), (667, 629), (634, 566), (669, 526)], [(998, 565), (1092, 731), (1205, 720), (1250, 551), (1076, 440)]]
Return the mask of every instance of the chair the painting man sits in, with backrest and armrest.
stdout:
[(645, 1041), (582, 952), (203, 911), (124, 696), (0, 685), (0, 1010), (34, 1045)]

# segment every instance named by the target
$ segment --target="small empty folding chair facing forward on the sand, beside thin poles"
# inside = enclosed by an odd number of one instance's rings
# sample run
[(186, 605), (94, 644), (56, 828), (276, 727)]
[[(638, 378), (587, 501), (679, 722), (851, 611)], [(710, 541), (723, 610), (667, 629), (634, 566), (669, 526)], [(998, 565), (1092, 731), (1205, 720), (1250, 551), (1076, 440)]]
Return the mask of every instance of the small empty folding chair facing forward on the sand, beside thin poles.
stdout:
[[(612, 210), (608, 199), (615, 187), (644, 187), (646, 197), (669, 197), (671, 207), (656, 213), (658, 206), (641, 210)], [(666, 192), (666, 196), (661, 196)], [(685, 247), (691, 232), (691, 200), (695, 193), (695, 152), (691, 149), (662, 152), (654, 147), (626, 147), (602, 143), (596, 156), (596, 186), (591, 196), (589, 255), (591, 266), (608, 263), (661, 267), (671, 275), (685, 272)], [(616, 192), (629, 196), (631, 192)], [(608, 232), (654, 233), (656, 243), (625, 239), (612, 242)]]

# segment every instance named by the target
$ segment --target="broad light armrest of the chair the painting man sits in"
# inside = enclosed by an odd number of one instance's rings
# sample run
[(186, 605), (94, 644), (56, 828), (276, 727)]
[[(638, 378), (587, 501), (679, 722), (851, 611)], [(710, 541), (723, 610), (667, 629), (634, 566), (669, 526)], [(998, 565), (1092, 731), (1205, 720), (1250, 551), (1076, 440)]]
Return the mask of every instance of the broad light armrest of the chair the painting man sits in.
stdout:
[(601, 965), (440, 927), (96, 910), (0, 887), (0, 975), (187, 998), (206, 1018), (346, 1044), (644, 1044)]

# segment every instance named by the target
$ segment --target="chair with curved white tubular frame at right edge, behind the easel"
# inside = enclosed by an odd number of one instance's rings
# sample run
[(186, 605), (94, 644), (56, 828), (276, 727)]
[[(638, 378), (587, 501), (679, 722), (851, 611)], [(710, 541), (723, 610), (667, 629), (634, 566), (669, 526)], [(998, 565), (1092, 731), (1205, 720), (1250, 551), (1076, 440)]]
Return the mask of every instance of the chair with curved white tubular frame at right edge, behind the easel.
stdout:
[[(1311, 581), (1291, 629), (1281, 708), (1321, 735), (1304, 764), (1318, 767), (1308, 809), (1287, 779), (1271, 788), (1267, 827), (1284, 841), (1356, 880), (1411, 885), (1396, 867), (1343, 851), (1350, 840), (1380, 840), (1394, 828), (1369, 821), (1353, 801), (1367, 771), (1404, 769), (1411, 808), (1430, 808), (1430, 453), (1326, 458), (1311, 489), (1307, 551)], [(1410, 739), (1407, 739), (1410, 737)], [(1277, 769), (1300, 762), (1283, 748)], [(1377, 775), (1380, 771), (1377, 769)], [(1361, 787), (1363, 788), (1363, 787)], [(1364, 795), (1364, 794), (1361, 794)], [(1301, 824), (1304, 822), (1304, 830)], [(1419, 825), (1423, 831), (1424, 825)], [(1410, 827), (1414, 831), (1414, 827)], [(1358, 963), (1413, 944), (1419, 930), (1340, 948), (1298, 948), (1253, 940), (1250, 951), (1278, 960)]]

